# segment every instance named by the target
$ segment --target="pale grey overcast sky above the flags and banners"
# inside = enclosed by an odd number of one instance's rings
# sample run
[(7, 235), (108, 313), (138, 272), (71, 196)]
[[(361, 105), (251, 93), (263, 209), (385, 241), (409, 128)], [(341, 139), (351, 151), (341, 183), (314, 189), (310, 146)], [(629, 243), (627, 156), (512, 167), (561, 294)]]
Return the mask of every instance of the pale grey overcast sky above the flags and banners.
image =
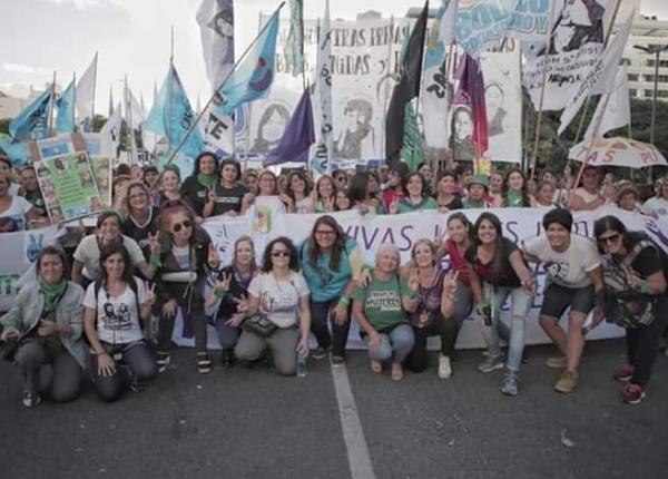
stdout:
[[(631, 0), (621, 0), (630, 3)], [(122, 77), (150, 105), (153, 85), (167, 71), (169, 30), (175, 29), (175, 63), (195, 104), (209, 94), (195, 13), (200, 0), (0, 0), (0, 89), (26, 96), (42, 88), (57, 70), (63, 87), (80, 76), (99, 52), (96, 111), (107, 114), (109, 86), (120, 99)], [(278, 0), (236, 0), (237, 55), (253, 39), (261, 11)], [(322, 17), (325, 0), (305, 0), (305, 17)], [(432, 1), (433, 4), (438, 3)], [(333, 18), (354, 18), (366, 10), (403, 16), (421, 0), (331, 0)], [(287, 14), (287, 9), (284, 10)], [(641, 12), (668, 19), (666, 0), (642, 0)]]

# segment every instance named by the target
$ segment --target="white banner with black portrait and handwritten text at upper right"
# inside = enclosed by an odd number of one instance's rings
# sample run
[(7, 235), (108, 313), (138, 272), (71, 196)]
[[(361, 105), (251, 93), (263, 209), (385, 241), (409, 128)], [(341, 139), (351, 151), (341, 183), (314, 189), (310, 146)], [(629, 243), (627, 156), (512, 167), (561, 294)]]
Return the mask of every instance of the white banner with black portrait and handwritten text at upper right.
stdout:
[(522, 82), (538, 109), (546, 61), (543, 110), (566, 107), (579, 90), (584, 76), (602, 53), (606, 32), (617, 0), (570, 0), (554, 9), (548, 43), (525, 43), (528, 62)]

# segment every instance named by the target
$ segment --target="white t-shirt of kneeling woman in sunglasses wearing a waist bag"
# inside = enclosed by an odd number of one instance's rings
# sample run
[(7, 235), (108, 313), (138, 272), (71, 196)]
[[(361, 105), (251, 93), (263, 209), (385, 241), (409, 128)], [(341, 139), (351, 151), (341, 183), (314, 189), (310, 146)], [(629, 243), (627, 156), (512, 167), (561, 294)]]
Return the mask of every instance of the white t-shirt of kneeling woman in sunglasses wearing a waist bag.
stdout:
[(259, 299), (259, 311), (278, 328), (297, 323), (299, 299), (308, 294), (304, 276), (292, 273), (289, 280), (276, 282), (272, 273), (261, 273), (250, 281), (248, 293)]

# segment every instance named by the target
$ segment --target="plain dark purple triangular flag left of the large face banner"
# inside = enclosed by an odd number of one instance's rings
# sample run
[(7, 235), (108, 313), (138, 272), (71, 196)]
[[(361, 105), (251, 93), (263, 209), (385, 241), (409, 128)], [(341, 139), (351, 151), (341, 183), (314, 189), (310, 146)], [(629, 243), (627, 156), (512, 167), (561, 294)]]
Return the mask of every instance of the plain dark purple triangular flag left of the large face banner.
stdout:
[(313, 108), (308, 89), (304, 90), (302, 99), (293, 113), (281, 143), (262, 162), (263, 166), (281, 165), (283, 163), (307, 163), (308, 149), (315, 143), (315, 126)]

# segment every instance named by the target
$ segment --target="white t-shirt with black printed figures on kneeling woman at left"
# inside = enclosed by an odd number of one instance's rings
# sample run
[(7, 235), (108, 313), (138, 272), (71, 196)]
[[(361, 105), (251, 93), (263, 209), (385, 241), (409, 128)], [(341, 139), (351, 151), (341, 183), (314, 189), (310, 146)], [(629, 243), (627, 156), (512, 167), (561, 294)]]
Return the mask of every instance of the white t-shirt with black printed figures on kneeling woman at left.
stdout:
[(98, 297), (95, 297), (95, 283), (90, 283), (84, 297), (84, 306), (96, 310), (97, 314), (97, 335), (100, 341), (109, 344), (128, 344), (144, 339), (141, 324), (139, 322), (139, 305), (146, 303), (146, 286), (144, 281), (135, 276), (137, 283), (137, 296), (128, 284), (122, 294), (118, 297), (107, 295), (104, 287), (98, 291)]

